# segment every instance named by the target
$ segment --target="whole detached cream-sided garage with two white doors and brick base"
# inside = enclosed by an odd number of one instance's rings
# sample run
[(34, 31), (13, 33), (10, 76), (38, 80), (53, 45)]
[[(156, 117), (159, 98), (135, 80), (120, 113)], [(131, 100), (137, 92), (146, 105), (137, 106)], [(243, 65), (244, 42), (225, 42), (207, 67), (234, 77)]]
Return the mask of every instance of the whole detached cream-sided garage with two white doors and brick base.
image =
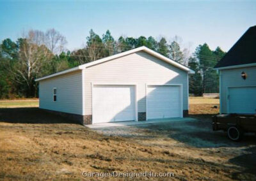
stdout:
[(134, 48), (36, 79), (39, 107), (81, 124), (183, 117), (189, 73), (147, 47)]

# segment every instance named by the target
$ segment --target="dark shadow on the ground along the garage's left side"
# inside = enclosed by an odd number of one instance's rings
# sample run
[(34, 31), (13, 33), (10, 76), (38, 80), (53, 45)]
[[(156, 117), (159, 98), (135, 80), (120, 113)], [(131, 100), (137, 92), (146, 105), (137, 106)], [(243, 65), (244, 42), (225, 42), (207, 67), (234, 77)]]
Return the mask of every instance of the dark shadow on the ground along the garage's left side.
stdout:
[(0, 108), (0, 122), (29, 124), (76, 124), (60, 115), (54, 115), (39, 108)]

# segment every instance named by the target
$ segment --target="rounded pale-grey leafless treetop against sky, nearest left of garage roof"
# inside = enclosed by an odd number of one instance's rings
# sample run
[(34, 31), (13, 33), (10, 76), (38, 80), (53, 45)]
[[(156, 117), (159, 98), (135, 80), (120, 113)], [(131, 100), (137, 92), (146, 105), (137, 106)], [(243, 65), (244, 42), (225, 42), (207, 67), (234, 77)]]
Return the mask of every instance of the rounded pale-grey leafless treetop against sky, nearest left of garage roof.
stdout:
[(65, 51), (67, 40), (60, 32), (55, 29), (49, 29), (45, 33), (45, 45), (53, 54), (60, 54)]

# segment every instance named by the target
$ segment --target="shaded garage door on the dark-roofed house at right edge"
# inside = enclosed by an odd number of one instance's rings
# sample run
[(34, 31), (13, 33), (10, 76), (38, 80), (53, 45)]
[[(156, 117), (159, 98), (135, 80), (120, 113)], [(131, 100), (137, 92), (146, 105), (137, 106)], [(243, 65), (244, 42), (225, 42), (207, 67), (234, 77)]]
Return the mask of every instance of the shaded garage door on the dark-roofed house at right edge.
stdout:
[(256, 87), (230, 87), (230, 113), (256, 113)]

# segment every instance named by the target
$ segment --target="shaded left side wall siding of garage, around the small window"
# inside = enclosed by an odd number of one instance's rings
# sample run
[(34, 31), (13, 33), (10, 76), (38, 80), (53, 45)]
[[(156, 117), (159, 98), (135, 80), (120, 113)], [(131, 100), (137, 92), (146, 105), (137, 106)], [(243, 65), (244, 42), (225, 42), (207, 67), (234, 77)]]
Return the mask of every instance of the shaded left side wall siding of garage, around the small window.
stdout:
[[(57, 101), (53, 101), (56, 88)], [(39, 83), (39, 107), (58, 112), (83, 114), (82, 73), (77, 71)]]

